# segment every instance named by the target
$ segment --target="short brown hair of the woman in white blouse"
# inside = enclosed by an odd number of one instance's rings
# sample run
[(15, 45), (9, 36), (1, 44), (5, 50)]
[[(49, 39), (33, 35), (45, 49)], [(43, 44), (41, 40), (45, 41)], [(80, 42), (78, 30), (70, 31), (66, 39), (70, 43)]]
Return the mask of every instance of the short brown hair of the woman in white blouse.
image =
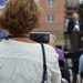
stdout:
[(27, 34), (39, 25), (39, 0), (10, 0), (0, 17), (0, 27), (13, 35)]

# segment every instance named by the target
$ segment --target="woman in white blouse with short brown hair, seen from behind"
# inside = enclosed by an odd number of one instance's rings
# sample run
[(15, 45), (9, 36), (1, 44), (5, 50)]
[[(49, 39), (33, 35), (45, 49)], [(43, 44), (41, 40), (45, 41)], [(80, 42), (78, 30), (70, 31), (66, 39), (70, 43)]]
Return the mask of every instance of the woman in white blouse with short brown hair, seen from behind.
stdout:
[[(9, 35), (0, 42), (0, 83), (42, 83), (43, 56), (38, 42), (29, 39), (39, 27), (42, 8), (39, 0), (9, 0), (0, 14), (0, 28)], [(61, 83), (58, 54), (48, 44), (46, 83)]]

